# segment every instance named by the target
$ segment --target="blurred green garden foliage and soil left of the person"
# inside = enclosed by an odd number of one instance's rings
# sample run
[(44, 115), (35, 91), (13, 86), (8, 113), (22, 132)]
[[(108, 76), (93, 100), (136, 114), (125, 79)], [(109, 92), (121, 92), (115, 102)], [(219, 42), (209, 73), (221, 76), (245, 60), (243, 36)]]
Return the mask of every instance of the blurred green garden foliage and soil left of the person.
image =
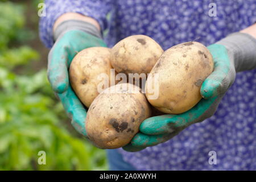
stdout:
[(72, 128), (49, 86), (40, 2), (0, 0), (0, 170), (106, 170), (105, 151)]

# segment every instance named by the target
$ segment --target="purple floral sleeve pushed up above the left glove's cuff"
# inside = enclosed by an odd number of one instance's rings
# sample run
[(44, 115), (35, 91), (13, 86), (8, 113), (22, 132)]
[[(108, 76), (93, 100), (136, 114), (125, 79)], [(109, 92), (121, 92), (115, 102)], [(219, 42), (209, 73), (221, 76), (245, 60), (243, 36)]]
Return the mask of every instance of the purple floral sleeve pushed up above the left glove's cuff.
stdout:
[(107, 14), (111, 10), (111, 0), (46, 0), (46, 16), (39, 21), (39, 35), (46, 47), (53, 46), (53, 24), (60, 15), (80, 13), (97, 20), (102, 31), (108, 27)]

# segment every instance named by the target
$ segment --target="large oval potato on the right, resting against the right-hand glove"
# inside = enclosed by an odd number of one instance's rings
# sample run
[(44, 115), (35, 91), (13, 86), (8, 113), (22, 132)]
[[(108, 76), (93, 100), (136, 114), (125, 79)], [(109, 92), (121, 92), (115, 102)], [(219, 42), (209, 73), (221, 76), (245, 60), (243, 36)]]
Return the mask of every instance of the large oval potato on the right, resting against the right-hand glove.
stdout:
[(201, 100), (201, 84), (212, 71), (213, 58), (203, 44), (173, 46), (162, 54), (147, 78), (147, 99), (163, 113), (184, 113)]

